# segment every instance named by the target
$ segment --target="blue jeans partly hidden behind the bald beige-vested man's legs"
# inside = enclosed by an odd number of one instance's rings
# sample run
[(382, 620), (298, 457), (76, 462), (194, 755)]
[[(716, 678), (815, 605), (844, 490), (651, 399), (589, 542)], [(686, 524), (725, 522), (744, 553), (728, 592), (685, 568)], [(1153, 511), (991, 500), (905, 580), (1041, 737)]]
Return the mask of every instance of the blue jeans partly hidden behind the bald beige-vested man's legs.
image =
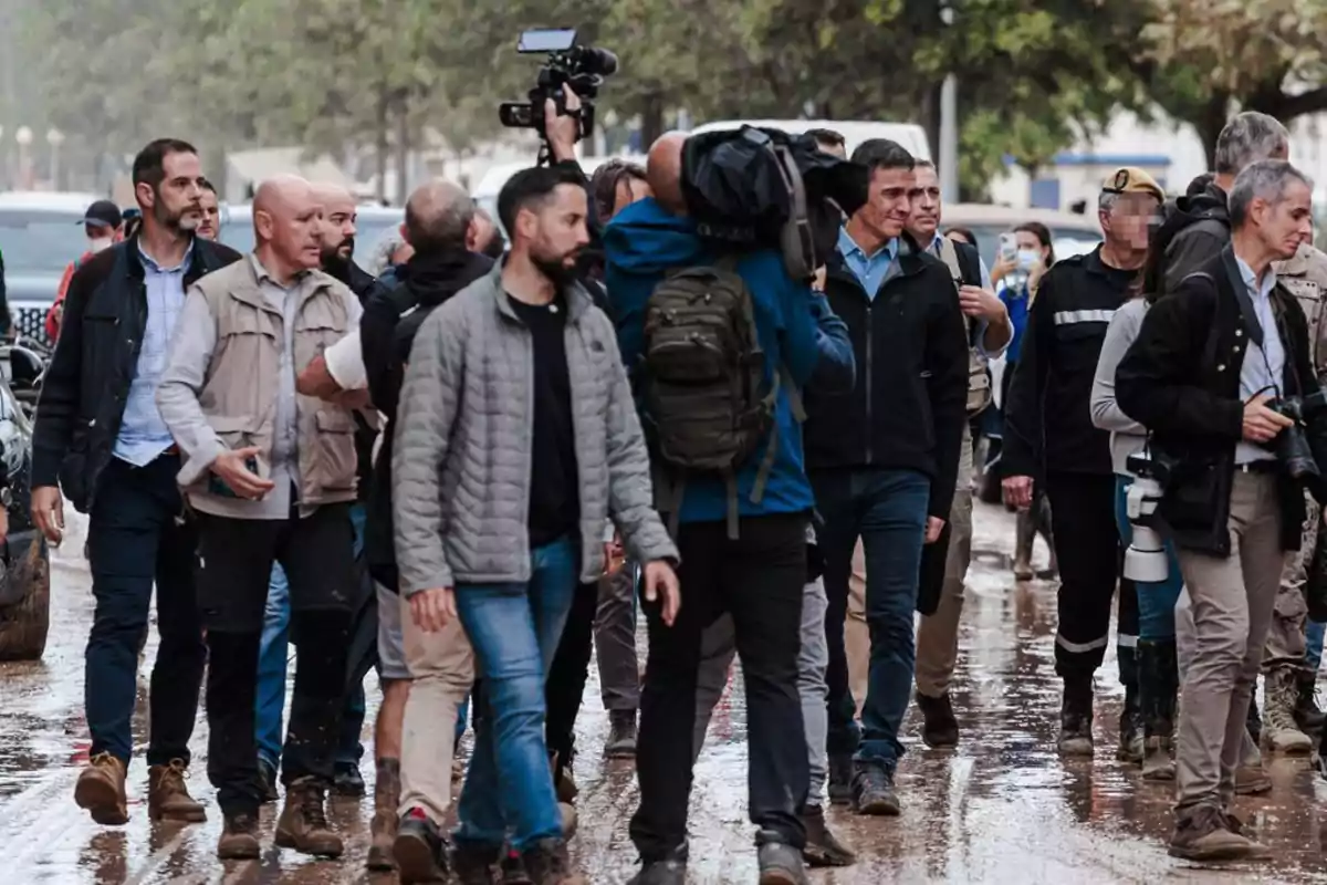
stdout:
[[(362, 504), (350, 507), (350, 524), (354, 527), (354, 556), (364, 551)], [(272, 580), (267, 585), (267, 610), (263, 616), (263, 640), (257, 653), (257, 755), (273, 770), (281, 760), (281, 719), (285, 715), (285, 673), (289, 666), (291, 638), (291, 585), (280, 563), (272, 564)], [(341, 738), (337, 742), (336, 762), (338, 766), (357, 766), (364, 747), (360, 734), (364, 731), (365, 697), (364, 686), (350, 686), (341, 714)]]

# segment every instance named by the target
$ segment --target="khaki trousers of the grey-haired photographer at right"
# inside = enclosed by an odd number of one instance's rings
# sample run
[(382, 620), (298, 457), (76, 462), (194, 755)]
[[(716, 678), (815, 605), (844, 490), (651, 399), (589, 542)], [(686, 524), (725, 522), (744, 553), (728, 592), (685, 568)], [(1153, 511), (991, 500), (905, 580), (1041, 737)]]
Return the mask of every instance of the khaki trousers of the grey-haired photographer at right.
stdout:
[(1275, 476), (1234, 475), (1227, 559), (1178, 551), (1193, 642), (1176, 751), (1177, 809), (1229, 805), (1285, 556)]

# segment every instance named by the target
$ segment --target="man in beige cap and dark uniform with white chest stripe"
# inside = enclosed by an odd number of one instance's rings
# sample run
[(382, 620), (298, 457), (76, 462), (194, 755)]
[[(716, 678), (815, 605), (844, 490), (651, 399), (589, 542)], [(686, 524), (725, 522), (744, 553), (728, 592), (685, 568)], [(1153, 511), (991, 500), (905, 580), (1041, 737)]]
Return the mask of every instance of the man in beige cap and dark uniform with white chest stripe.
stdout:
[[(1032, 503), (1034, 484), (1051, 502), (1060, 564), (1055, 671), (1064, 679), (1060, 752), (1092, 755), (1092, 678), (1109, 642), (1120, 548), (1115, 524), (1111, 435), (1092, 425), (1092, 379), (1105, 329), (1140, 284), (1149, 223), (1164, 194), (1151, 175), (1127, 166), (1105, 176), (1097, 219), (1105, 241), (1063, 259), (1042, 279), (1005, 413), (1005, 500)], [(1119, 658), (1125, 687), (1120, 756), (1143, 760), (1133, 659), (1137, 598), (1120, 594)]]

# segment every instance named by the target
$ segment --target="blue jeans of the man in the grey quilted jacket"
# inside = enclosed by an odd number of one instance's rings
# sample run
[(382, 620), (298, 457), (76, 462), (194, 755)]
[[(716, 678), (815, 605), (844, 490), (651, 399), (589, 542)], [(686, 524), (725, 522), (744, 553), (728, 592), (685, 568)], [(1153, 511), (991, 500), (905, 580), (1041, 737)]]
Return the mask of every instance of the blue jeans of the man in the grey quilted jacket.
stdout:
[(561, 539), (531, 551), (527, 584), (459, 584), (456, 612), (475, 649), (486, 707), (456, 807), (456, 840), (524, 851), (563, 835), (544, 742), (544, 679), (576, 593), (577, 548)]

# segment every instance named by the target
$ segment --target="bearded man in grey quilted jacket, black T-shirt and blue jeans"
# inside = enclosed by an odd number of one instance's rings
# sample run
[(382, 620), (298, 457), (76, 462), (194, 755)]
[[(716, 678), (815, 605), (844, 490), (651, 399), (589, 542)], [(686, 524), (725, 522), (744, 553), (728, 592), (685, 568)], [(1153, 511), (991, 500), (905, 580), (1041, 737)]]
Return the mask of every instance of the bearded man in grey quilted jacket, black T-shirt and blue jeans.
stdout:
[[(455, 866), (487, 881), (507, 828), (537, 885), (569, 870), (544, 742), (544, 678), (579, 580), (604, 571), (612, 517), (671, 622), (678, 553), (609, 318), (573, 280), (585, 190), (560, 169), (498, 198), (511, 253), (434, 310), (406, 369), (393, 452), (401, 592), (426, 632), (460, 624), (484, 674)], [(498, 770), (503, 776), (498, 776)]]

